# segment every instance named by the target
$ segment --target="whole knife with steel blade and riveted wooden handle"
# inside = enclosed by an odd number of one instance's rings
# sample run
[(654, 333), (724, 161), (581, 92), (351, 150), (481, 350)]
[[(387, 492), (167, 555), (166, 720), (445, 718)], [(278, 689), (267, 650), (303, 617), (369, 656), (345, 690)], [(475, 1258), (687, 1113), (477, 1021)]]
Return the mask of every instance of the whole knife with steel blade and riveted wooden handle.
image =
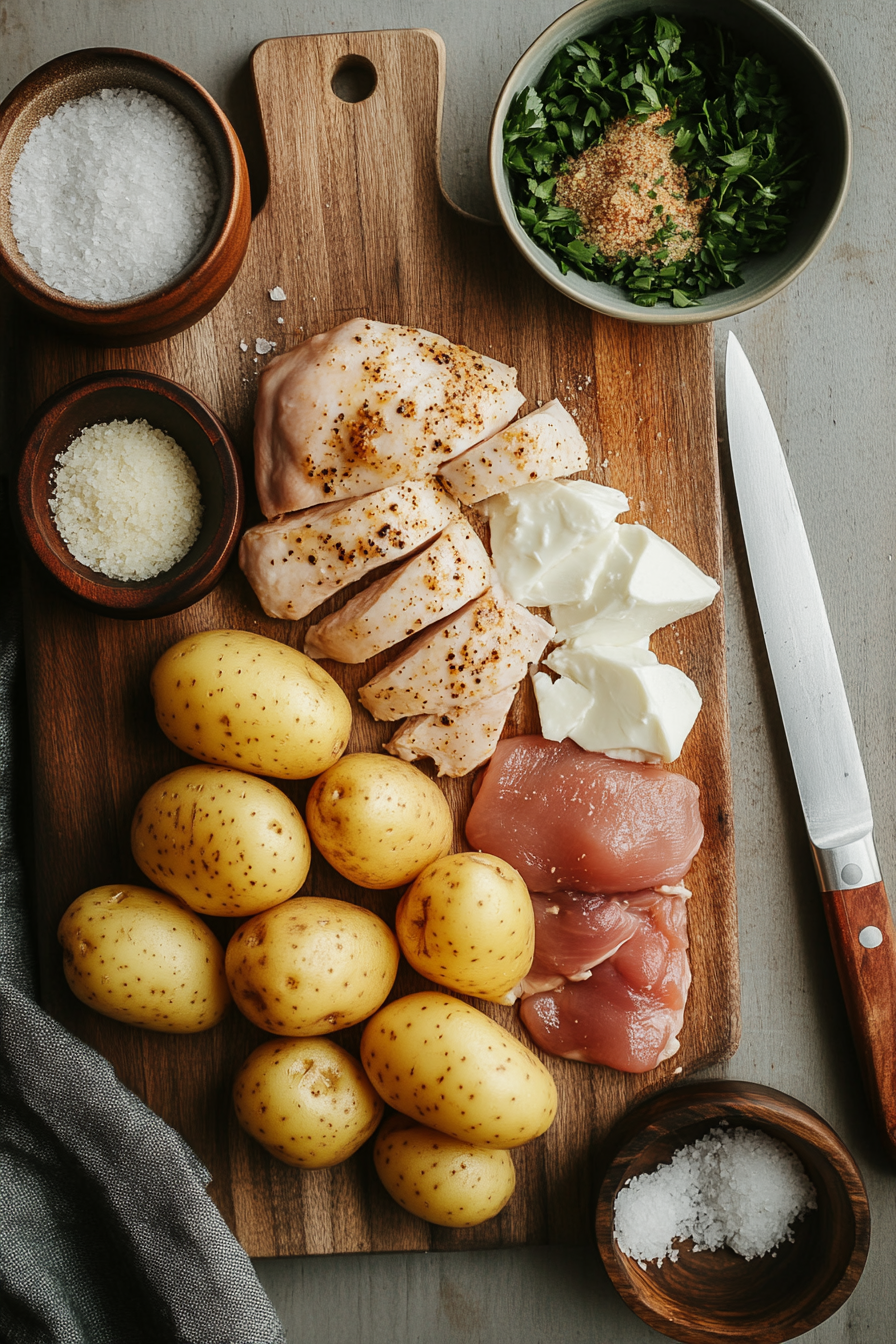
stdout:
[(865, 1086), (896, 1156), (896, 934), (865, 771), (787, 464), (736, 337), (728, 441), (756, 606)]

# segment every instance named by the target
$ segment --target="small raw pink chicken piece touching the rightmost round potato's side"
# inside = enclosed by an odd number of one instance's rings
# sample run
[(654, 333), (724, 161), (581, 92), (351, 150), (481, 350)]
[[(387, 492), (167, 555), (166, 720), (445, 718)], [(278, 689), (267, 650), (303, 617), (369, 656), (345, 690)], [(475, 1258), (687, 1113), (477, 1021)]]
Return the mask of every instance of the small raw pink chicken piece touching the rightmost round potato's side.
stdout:
[[(532, 894), (535, 960), (523, 981), (523, 993), (555, 989), (567, 980), (587, 980), (591, 970), (613, 957), (641, 926), (638, 895), (599, 896), (587, 891)], [(646, 892), (653, 895), (653, 892)]]

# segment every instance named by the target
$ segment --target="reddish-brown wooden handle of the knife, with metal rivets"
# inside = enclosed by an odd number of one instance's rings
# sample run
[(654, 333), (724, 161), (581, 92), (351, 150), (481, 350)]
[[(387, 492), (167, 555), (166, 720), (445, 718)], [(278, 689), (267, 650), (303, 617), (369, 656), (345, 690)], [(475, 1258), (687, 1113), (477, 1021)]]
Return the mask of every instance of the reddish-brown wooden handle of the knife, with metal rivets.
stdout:
[(896, 1157), (896, 930), (889, 900), (883, 882), (822, 898), (868, 1099)]

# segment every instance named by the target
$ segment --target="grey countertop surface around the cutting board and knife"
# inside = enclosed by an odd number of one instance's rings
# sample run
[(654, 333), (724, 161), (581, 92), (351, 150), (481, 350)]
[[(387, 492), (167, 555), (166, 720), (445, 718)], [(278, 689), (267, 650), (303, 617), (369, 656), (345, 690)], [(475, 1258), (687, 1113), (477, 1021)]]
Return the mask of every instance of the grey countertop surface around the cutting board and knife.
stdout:
[[(429, 27), (447, 46), (443, 176), (492, 215), (485, 141), (504, 77), (564, 0), (3, 0), (0, 97), (44, 60), (89, 46), (149, 51), (189, 71), (257, 153), (247, 59), (265, 38)], [(888, 0), (778, 0), (846, 93), (856, 171), (813, 265), (737, 333), (766, 390), (814, 550), (877, 820), (896, 886), (896, 83)], [(719, 0), (719, 17), (724, 3)], [(719, 360), (720, 367), (720, 360)], [(872, 1249), (850, 1301), (803, 1336), (896, 1339), (896, 1165), (872, 1133), (825, 931), (732, 505), (724, 430), (725, 602), (743, 1042), (716, 1077), (752, 1079), (818, 1110), (856, 1156)], [(259, 1261), (290, 1344), (547, 1344), (660, 1339), (621, 1302), (590, 1246)]]

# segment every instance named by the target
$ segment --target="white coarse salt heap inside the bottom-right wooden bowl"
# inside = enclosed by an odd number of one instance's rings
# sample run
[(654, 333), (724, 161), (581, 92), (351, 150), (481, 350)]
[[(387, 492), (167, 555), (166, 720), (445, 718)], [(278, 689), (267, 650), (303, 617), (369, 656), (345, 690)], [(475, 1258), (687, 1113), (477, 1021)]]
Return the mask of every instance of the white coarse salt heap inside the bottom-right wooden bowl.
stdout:
[(670, 1163), (626, 1181), (615, 1199), (619, 1250), (646, 1269), (695, 1251), (729, 1246), (744, 1259), (793, 1241), (793, 1226), (817, 1208), (815, 1187), (780, 1140), (758, 1129), (712, 1129)]

